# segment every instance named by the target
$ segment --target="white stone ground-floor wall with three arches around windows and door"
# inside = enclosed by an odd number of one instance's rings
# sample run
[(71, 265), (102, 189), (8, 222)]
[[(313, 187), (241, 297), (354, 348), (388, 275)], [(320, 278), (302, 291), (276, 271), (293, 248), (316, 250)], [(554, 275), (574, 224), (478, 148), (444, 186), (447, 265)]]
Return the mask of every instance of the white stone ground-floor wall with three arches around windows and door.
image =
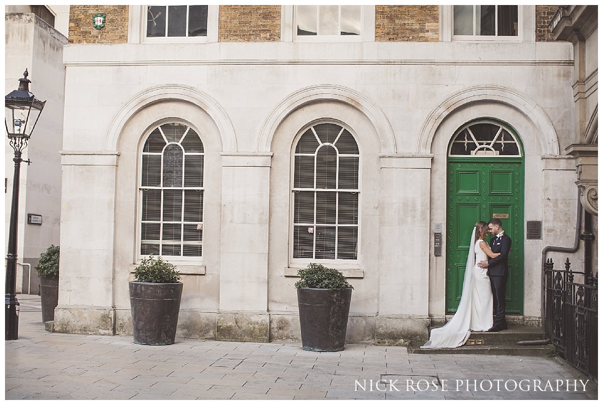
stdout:
[(345, 123), (361, 150), (359, 260), (334, 263), (355, 286), (353, 341), (421, 336), (443, 318), (432, 226), (446, 222), (446, 149), (481, 116), (513, 125), (525, 149), (525, 219), (545, 222), (543, 240), (518, 241), (525, 318), (537, 320), (541, 249), (573, 237), (575, 186), (559, 157), (573, 139), (571, 60), (569, 43), (529, 41), (67, 46), (63, 325), (115, 308), (127, 332), (140, 142), (168, 118), (207, 146), (204, 257), (178, 263), (203, 271), (183, 280), (179, 333), (194, 319), (224, 337), (221, 322), (270, 318), (270, 336), (298, 337), (293, 276), (305, 263), (289, 246), (292, 145), (316, 120)]

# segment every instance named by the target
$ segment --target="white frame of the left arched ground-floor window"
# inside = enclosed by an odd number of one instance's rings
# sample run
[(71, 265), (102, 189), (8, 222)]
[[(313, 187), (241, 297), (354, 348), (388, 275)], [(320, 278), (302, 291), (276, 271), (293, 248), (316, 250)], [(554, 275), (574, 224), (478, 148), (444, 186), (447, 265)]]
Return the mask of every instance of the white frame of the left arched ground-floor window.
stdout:
[[(144, 135), (141, 137), (142, 142), (140, 142), (139, 148), (138, 148), (138, 163), (137, 163), (137, 174), (136, 174), (136, 209), (137, 209), (137, 214), (136, 214), (136, 263), (140, 263), (140, 260), (142, 259), (148, 259), (150, 257), (150, 255), (145, 255), (145, 254), (141, 254), (140, 253), (140, 248), (141, 243), (142, 243), (142, 190), (144, 189), (144, 186), (142, 186), (142, 154), (143, 154), (143, 150), (144, 150), (144, 146), (145, 143), (147, 142), (148, 137), (150, 136), (150, 134), (156, 130), (156, 128), (160, 127), (161, 125), (165, 125), (165, 124), (182, 124), (182, 125), (186, 125), (189, 128), (191, 128), (192, 130), (194, 130), (197, 135), (199, 136), (199, 138), (201, 139), (201, 143), (203, 143), (203, 152), (199, 153), (199, 154), (203, 154), (203, 156), (205, 156), (206, 152), (205, 152), (205, 142), (203, 140), (203, 137), (201, 136), (200, 131), (194, 127), (194, 125), (192, 125), (189, 122), (186, 121), (182, 121), (180, 119), (175, 119), (175, 118), (166, 118), (163, 119), (161, 121), (156, 122), (155, 124), (151, 125), (151, 127), (148, 128), (147, 131), (145, 131)], [(162, 152), (163, 153), (163, 152)], [(197, 153), (195, 153), (197, 154)], [(183, 159), (184, 159), (184, 154), (183, 154)], [(162, 157), (162, 162), (163, 162), (163, 157)], [(163, 163), (162, 163), (162, 168), (163, 168)], [(205, 159), (203, 159), (203, 176), (205, 175)], [(205, 222), (205, 214), (206, 214), (206, 210), (205, 210), (205, 197), (206, 197), (206, 187), (205, 187), (205, 179), (203, 179), (203, 187), (184, 187), (184, 183), (183, 183), (183, 187), (178, 187), (178, 188), (182, 188), (182, 189), (200, 189), (203, 190), (203, 222), (201, 222), (201, 224), (203, 224), (203, 230), (201, 230), (201, 232), (203, 232), (203, 242), (201, 243), (201, 256), (162, 256), (162, 257), (166, 257), (167, 259), (169, 259), (169, 262), (174, 263), (175, 265), (200, 265), (203, 263), (203, 257), (205, 255), (205, 227), (204, 227), (204, 222)], [(160, 190), (163, 189), (168, 189), (168, 187), (159, 187)], [(182, 201), (183, 204), (183, 208), (184, 209), (184, 200)], [(161, 210), (163, 211), (163, 208), (161, 208)], [(161, 214), (160, 214), (161, 215)], [(163, 222), (163, 219), (160, 217), (160, 221), (159, 222)], [(160, 230), (161, 232), (161, 230)], [(161, 234), (160, 234), (161, 237)], [(160, 255), (153, 255), (153, 256), (160, 256)]]

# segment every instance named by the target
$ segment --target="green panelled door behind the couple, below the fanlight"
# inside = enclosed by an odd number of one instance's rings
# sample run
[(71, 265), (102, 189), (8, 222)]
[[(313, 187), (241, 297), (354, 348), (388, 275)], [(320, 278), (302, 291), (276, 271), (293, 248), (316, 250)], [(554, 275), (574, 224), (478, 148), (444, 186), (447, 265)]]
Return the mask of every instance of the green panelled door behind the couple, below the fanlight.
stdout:
[[(455, 312), (473, 226), (493, 216), (513, 241), (507, 313), (523, 313), (523, 163), (521, 158), (449, 157), (447, 165), (446, 311)], [(490, 236), (488, 236), (489, 238)], [(487, 242), (490, 240), (488, 239)]]

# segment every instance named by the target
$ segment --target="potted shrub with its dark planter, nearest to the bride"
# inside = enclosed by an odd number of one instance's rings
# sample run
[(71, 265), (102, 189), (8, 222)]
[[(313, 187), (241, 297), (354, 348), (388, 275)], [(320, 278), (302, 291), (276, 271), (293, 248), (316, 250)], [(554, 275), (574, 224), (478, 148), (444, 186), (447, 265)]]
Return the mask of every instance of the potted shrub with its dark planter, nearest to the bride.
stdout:
[(346, 344), (347, 316), (352, 290), (341, 272), (310, 263), (297, 274), (297, 305), (301, 348), (308, 351), (341, 351)]

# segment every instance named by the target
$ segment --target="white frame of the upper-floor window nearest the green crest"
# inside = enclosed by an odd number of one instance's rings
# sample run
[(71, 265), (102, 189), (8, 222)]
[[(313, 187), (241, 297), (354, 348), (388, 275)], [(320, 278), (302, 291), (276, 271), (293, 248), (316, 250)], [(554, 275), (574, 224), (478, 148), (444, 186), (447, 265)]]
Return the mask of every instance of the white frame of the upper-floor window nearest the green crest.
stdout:
[[(166, 6), (167, 5), (171, 4), (166, 4)], [(218, 42), (218, 5), (207, 6), (207, 36), (204, 37), (147, 37), (147, 7), (148, 5), (130, 5), (128, 43)]]

